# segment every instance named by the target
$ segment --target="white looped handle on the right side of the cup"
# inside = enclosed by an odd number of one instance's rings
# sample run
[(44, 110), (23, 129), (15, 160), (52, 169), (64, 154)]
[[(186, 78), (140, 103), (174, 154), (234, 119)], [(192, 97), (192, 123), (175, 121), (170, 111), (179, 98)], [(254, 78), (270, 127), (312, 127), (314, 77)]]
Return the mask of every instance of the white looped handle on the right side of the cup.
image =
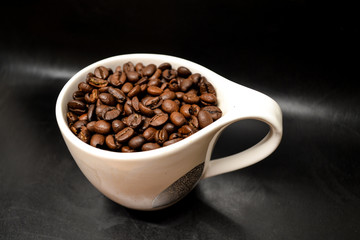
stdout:
[(232, 97), (231, 100), (225, 99), (225, 101), (232, 104), (227, 109), (229, 114), (223, 116), (226, 119), (224, 119), (221, 129), (213, 138), (212, 147), (220, 133), (231, 123), (237, 121), (255, 119), (266, 123), (270, 129), (268, 134), (256, 145), (242, 152), (209, 161), (202, 179), (235, 171), (263, 160), (275, 151), (282, 138), (282, 112), (279, 105), (273, 99), (260, 92), (233, 82), (230, 84), (232, 86), (228, 87), (231, 90), (227, 93), (226, 98), (228, 96)]

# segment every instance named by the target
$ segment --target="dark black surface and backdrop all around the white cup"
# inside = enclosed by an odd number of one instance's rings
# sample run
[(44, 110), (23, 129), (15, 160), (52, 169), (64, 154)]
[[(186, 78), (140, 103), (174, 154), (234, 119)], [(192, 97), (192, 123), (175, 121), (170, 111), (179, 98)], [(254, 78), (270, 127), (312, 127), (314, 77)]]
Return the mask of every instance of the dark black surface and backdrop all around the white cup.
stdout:
[[(360, 239), (358, 11), (314, 1), (10, 1), (0, 15), (0, 239)], [(155, 212), (108, 200), (58, 130), (66, 81), (97, 60), (162, 53), (274, 98), (266, 160)], [(233, 132), (236, 132), (234, 134)], [(259, 141), (231, 125), (212, 158)]]

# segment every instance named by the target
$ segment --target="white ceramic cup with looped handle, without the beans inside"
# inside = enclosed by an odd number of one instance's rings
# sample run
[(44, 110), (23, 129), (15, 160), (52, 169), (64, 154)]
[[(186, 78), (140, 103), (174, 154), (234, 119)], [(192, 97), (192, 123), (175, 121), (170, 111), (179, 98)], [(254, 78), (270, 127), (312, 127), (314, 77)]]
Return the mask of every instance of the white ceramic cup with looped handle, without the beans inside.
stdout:
[[(128, 61), (144, 65), (169, 62), (175, 69), (185, 66), (193, 73), (200, 73), (215, 87), (223, 116), (184, 140), (146, 152), (112, 152), (82, 142), (70, 131), (66, 120), (67, 103), (73, 92), (96, 67), (115, 69)], [(266, 158), (277, 148), (282, 137), (282, 113), (273, 99), (199, 64), (160, 54), (120, 55), (85, 67), (61, 90), (56, 102), (56, 119), (71, 155), (87, 179), (111, 200), (139, 210), (170, 206), (189, 193), (201, 179), (244, 168)], [(245, 151), (210, 161), (222, 130), (243, 119), (265, 122), (269, 125), (268, 134)]]

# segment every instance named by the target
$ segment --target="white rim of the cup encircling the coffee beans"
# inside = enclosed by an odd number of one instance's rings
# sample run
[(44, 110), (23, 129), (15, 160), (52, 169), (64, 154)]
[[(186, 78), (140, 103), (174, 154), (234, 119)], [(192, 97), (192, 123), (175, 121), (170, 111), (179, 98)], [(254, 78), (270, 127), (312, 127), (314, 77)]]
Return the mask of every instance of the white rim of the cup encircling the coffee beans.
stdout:
[[(223, 126), (225, 122), (227, 122), (227, 114), (224, 113), (223, 109), (220, 108), (223, 111), (223, 115), (221, 118), (213, 122), (212, 124), (208, 125), (204, 129), (200, 129), (195, 134), (192, 134), (191, 136), (176, 142), (174, 144), (171, 144), (169, 146), (161, 147), (158, 149), (150, 150), (150, 151), (140, 151), (140, 152), (131, 152), (131, 153), (124, 153), (124, 152), (115, 152), (110, 150), (104, 150), (99, 149), (91, 146), (88, 143), (84, 143), (81, 141), (78, 137), (76, 137), (70, 130), (70, 128), (67, 125), (66, 121), (66, 113), (63, 112), (63, 105), (67, 104), (65, 102), (65, 96), (68, 94), (69, 91), (74, 91), (74, 89), (70, 89), (72, 84), (76, 81), (79, 81), (79, 77), (83, 75), (84, 73), (88, 73), (91, 71), (91, 69), (94, 69), (97, 66), (104, 65), (111, 61), (135, 61), (135, 59), (144, 59), (144, 60), (161, 60), (162, 62), (169, 62), (171, 64), (176, 63), (176, 65), (186, 66), (189, 69), (196, 69), (196, 72), (199, 72), (201, 75), (205, 76), (209, 82), (213, 83), (213, 79), (221, 79), (222, 82), (230, 82), (229, 80), (223, 78), (222, 76), (218, 75), (217, 73), (197, 64), (192, 61), (174, 57), (170, 55), (164, 55), (164, 54), (152, 54), (152, 53), (132, 53), (132, 54), (122, 54), (117, 56), (108, 57), (99, 61), (96, 61), (84, 68), (82, 68), (80, 71), (78, 71), (74, 76), (72, 76), (63, 86), (61, 89), (57, 100), (56, 100), (56, 106), (55, 106), (55, 115), (58, 127), (63, 135), (64, 138), (66, 138), (68, 141), (70, 141), (76, 148), (82, 149), (85, 152), (88, 152), (89, 154), (95, 155), (99, 159), (108, 159), (108, 160), (114, 160), (114, 161), (140, 161), (150, 158), (156, 158), (164, 155), (170, 155), (173, 153), (176, 149), (179, 148), (185, 148), (187, 145), (191, 144), (192, 142), (197, 142), (200, 138), (202, 138), (204, 135), (206, 135), (209, 132), (212, 132), (219, 127)], [(140, 60), (138, 60), (140, 61)], [(191, 67), (190, 67), (191, 66)], [(215, 89), (218, 92), (218, 88), (215, 87)], [(221, 100), (219, 100), (220, 102)]]

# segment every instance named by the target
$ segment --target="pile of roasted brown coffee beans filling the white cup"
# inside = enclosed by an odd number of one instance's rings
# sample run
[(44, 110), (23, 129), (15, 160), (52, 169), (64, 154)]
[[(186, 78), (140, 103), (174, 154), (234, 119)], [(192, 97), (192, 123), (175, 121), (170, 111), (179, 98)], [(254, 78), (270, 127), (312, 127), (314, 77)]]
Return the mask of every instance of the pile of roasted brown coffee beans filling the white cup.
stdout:
[(97, 67), (67, 106), (69, 127), (79, 139), (120, 152), (168, 146), (222, 116), (213, 85), (169, 63)]

